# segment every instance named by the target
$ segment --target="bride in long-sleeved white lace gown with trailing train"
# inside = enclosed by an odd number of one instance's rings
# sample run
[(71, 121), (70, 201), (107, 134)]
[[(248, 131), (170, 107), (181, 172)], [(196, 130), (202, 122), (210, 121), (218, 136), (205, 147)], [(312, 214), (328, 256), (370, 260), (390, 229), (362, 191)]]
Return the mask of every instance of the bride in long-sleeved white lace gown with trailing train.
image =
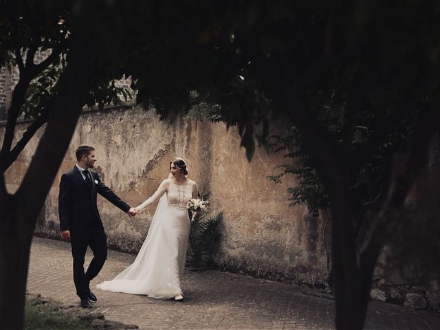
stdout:
[(180, 281), (190, 233), (186, 205), (190, 199), (197, 198), (197, 185), (186, 178), (187, 174), (184, 159), (170, 162), (168, 179), (162, 181), (153, 196), (135, 208), (136, 214), (159, 200), (135, 261), (113, 280), (98, 284), (98, 289), (183, 300)]

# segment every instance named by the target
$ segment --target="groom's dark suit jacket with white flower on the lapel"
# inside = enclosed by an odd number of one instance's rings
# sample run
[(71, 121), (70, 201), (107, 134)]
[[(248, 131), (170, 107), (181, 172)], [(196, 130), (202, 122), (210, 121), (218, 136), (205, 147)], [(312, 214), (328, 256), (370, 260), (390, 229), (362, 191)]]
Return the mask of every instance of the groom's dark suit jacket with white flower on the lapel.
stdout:
[(64, 173), (60, 181), (60, 194), (58, 196), (58, 213), (60, 216), (61, 231), (70, 230), (79, 232), (85, 230), (91, 221), (98, 221), (102, 226), (102, 220), (96, 206), (96, 194), (118, 206), (122, 211), (128, 212), (130, 206), (122, 201), (109, 187), (105, 186), (98, 173), (89, 169), (92, 177), (91, 188), (83, 179), (78, 167)]

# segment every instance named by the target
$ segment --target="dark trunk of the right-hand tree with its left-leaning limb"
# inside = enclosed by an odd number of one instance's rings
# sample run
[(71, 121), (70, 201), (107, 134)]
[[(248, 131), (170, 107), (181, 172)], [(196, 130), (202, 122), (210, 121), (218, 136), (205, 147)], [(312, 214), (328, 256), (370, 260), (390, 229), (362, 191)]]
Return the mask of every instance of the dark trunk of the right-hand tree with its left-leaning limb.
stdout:
[[(351, 184), (347, 151), (342, 155), (338, 144), (320, 123), (295, 100), (296, 91), (286, 97), (292, 121), (303, 137), (305, 150), (314, 162), (320, 179), (329, 193), (332, 213), (331, 261), (336, 300), (336, 329), (362, 329), (360, 317), (361, 278), (356, 263), (355, 233), (351, 211)], [(299, 98), (300, 99), (300, 98)], [(313, 146), (313, 147), (311, 147)]]

